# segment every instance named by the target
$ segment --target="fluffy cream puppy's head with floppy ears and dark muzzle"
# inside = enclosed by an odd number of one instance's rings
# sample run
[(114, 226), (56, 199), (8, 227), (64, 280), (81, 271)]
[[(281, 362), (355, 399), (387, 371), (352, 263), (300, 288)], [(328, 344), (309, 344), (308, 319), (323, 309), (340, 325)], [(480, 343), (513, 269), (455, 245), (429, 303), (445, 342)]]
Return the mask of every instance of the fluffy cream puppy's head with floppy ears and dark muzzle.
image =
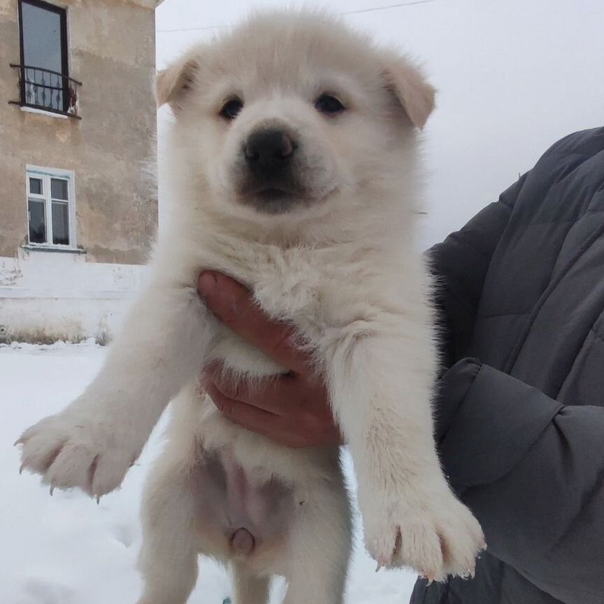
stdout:
[[(257, 15), (157, 77), (179, 178), (229, 215), (352, 210), (401, 178), (434, 90), (404, 57), (319, 13)], [(361, 194), (363, 193), (363, 194)], [(201, 200), (198, 200), (201, 203)]]

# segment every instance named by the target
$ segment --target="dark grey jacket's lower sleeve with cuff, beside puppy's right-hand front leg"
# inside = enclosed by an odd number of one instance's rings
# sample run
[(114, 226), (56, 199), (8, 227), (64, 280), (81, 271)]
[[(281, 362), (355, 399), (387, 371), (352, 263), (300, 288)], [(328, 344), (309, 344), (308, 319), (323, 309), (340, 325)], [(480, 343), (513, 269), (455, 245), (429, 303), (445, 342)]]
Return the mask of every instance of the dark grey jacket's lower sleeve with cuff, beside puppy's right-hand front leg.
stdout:
[(463, 359), (440, 380), (440, 455), (488, 549), (565, 604), (604, 602), (604, 408)]

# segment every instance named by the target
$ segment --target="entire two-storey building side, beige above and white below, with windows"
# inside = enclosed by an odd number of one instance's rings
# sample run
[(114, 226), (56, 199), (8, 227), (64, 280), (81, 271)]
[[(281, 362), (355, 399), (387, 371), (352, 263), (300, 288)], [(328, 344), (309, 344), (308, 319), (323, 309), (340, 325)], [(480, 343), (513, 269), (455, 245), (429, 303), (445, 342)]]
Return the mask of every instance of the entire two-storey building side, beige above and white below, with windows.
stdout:
[(0, 339), (104, 340), (157, 230), (154, 0), (0, 0)]

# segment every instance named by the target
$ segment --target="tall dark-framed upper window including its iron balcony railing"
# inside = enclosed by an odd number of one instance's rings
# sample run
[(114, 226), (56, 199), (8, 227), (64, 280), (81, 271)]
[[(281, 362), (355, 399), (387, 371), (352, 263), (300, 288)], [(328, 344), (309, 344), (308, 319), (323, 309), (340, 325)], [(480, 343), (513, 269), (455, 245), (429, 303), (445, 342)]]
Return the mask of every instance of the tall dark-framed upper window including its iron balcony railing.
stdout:
[(69, 78), (67, 14), (41, 0), (19, 0), (21, 34), (20, 105), (55, 113), (77, 113), (80, 82)]

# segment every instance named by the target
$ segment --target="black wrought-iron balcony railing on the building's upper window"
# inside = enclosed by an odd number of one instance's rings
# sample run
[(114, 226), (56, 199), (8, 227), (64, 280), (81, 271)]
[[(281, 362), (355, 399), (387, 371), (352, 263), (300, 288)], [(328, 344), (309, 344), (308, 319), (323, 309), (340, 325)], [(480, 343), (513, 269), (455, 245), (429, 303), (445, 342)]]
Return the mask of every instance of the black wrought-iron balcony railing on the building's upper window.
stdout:
[(21, 93), (21, 100), (11, 103), (80, 119), (78, 93), (82, 82), (50, 69), (12, 63), (10, 66), (19, 70)]

